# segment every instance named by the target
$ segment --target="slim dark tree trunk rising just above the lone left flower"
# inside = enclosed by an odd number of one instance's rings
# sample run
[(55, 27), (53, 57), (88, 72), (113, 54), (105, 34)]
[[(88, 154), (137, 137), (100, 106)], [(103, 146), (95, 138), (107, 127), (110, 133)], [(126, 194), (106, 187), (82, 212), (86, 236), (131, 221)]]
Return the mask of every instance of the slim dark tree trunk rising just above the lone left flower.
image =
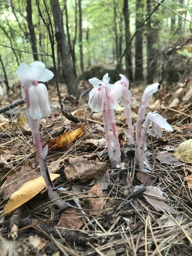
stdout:
[[(28, 27), (29, 27), (32, 52), (37, 53), (36, 37), (35, 37), (35, 31), (34, 31), (34, 26), (33, 26), (33, 22), (32, 22), (31, 0), (27, 0), (26, 11), (27, 11), (27, 23), (28, 23)], [(34, 58), (34, 60), (38, 60), (38, 55), (33, 54), (33, 58)]]

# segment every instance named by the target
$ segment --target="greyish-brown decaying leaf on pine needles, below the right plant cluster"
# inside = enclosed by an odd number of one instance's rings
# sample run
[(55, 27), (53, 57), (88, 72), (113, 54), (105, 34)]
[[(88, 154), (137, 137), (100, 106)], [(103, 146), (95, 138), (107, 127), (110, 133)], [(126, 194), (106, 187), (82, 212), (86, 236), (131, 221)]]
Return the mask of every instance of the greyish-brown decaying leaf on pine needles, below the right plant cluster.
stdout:
[[(141, 186), (136, 186), (136, 189), (137, 188), (141, 188)], [(157, 212), (164, 210), (165, 212), (170, 212), (171, 214), (180, 213), (166, 203), (168, 199), (163, 196), (163, 192), (159, 187), (146, 187), (146, 191), (143, 192), (142, 197), (144, 197), (147, 203), (149, 203)]]

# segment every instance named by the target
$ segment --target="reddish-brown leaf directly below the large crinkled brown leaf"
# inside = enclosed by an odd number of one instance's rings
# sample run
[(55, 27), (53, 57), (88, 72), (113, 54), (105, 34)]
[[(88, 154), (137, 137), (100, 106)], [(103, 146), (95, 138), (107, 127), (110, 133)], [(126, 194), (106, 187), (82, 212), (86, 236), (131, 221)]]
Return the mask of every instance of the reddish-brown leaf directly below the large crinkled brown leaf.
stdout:
[[(92, 196), (97, 196), (98, 198), (94, 198), (94, 199), (89, 199), (89, 214), (90, 215), (98, 215), (100, 213), (100, 215), (102, 215), (102, 209), (105, 209), (105, 205), (108, 202), (108, 200), (106, 199), (107, 195), (102, 191), (102, 189), (100, 188), (100, 186), (98, 186), (97, 184), (95, 186), (93, 186), (90, 190), (89, 190), (89, 195)], [(102, 199), (105, 198), (105, 199)], [(95, 210), (95, 211), (93, 211)]]

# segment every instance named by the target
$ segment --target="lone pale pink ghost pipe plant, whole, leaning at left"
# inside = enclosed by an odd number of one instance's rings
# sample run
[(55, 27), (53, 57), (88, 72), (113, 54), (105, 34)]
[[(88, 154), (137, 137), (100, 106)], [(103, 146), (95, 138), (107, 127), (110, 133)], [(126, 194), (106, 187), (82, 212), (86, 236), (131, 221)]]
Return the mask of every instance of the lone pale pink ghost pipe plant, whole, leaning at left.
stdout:
[(44, 148), (42, 147), (39, 133), (40, 121), (42, 118), (51, 115), (51, 109), (47, 88), (43, 83), (38, 83), (38, 81), (47, 82), (54, 77), (54, 74), (45, 67), (44, 63), (39, 61), (33, 62), (30, 66), (26, 63), (21, 63), (17, 74), (21, 81), (22, 96), (27, 106), (27, 118), (37, 149), (41, 176), (45, 180), (50, 200), (54, 200), (58, 208), (65, 208), (67, 205), (58, 197), (57, 189), (52, 183), (50, 171), (46, 164), (48, 145)]

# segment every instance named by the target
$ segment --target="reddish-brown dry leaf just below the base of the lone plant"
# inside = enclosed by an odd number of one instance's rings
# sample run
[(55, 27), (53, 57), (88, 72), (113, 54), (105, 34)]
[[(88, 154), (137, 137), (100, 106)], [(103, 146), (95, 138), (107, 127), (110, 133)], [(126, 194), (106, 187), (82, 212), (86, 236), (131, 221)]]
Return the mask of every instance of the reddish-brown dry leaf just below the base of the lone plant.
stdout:
[(62, 213), (61, 220), (58, 222), (57, 227), (79, 229), (83, 224), (82, 214), (78, 209), (71, 207)]

